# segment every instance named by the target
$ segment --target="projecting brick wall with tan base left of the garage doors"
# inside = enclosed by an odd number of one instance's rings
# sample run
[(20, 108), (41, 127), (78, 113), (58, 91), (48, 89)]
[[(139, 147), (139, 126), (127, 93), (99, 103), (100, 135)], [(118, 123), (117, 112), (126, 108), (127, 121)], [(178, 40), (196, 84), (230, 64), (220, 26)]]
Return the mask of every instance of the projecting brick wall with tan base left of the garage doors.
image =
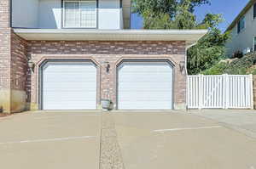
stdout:
[(26, 41), (10, 28), (9, 0), (0, 1), (0, 107), (19, 112), (26, 104)]

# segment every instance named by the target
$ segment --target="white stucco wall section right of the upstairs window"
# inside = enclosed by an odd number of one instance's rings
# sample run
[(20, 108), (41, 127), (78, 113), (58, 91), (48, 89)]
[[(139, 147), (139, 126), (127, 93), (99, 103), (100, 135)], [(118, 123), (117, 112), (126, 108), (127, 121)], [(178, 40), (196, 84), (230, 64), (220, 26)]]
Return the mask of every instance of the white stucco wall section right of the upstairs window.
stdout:
[(99, 0), (99, 29), (122, 29), (122, 24), (120, 23), (120, 11), (119, 0)]

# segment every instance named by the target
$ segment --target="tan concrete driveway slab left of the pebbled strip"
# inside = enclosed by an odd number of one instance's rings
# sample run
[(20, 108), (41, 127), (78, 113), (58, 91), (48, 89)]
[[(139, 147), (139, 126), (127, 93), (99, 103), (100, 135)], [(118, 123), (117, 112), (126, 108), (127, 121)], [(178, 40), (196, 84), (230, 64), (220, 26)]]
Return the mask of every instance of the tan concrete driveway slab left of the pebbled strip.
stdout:
[(101, 115), (24, 113), (0, 119), (0, 168), (99, 167)]

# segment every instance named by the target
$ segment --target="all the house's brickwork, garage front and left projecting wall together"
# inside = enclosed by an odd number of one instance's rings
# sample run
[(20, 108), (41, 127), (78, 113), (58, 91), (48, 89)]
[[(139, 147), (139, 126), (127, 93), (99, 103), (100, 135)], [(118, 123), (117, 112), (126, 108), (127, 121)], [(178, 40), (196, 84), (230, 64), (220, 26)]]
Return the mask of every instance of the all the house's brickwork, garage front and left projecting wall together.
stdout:
[[(185, 42), (46, 42), (26, 41), (9, 27), (9, 0), (0, 1), (0, 107), (6, 112), (39, 108), (39, 66), (45, 59), (90, 59), (97, 65), (97, 104), (112, 99), (116, 104), (116, 70), (124, 59), (166, 59), (174, 65), (174, 105), (185, 107)], [(32, 59), (36, 67), (28, 70)], [(106, 62), (110, 70), (106, 72)], [(27, 103), (27, 107), (26, 107)]]

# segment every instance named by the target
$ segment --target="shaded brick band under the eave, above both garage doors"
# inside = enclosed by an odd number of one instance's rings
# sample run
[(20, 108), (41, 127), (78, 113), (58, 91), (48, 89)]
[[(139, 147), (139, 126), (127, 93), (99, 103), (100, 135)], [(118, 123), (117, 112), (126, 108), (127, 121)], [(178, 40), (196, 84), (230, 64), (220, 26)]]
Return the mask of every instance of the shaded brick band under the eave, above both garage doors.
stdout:
[(184, 42), (29, 42), (30, 54), (185, 54)]

